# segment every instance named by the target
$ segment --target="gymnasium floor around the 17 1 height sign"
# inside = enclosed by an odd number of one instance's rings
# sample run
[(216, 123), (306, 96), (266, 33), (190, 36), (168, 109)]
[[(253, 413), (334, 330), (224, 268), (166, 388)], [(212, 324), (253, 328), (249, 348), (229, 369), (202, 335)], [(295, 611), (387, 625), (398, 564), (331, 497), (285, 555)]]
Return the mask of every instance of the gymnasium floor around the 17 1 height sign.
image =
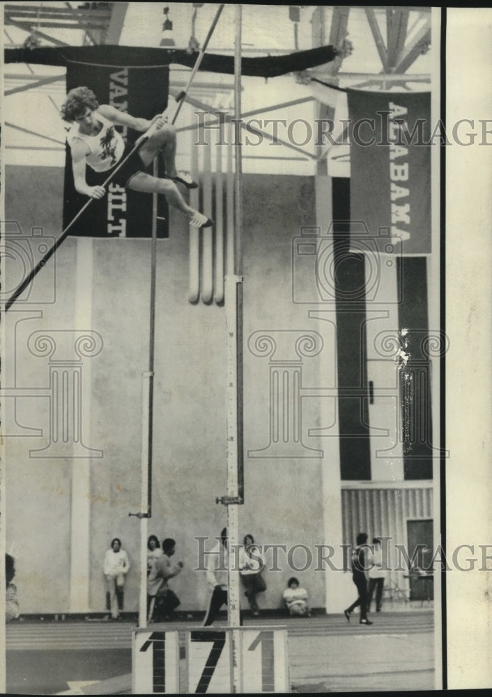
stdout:
[[(372, 627), (361, 627), (356, 617), (348, 624), (343, 615), (255, 618), (254, 625), (288, 627), (293, 693), (433, 689), (432, 608), (389, 608), (372, 619)], [(130, 694), (134, 626), (70, 620), (8, 625), (8, 694)]]

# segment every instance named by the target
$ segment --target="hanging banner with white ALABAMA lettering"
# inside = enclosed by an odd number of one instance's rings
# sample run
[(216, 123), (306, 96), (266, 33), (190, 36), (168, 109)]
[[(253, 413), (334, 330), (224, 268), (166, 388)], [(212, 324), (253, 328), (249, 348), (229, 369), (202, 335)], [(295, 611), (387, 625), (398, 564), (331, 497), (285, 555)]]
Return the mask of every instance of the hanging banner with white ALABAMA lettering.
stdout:
[(351, 251), (429, 254), (430, 93), (348, 90), (347, 96)]

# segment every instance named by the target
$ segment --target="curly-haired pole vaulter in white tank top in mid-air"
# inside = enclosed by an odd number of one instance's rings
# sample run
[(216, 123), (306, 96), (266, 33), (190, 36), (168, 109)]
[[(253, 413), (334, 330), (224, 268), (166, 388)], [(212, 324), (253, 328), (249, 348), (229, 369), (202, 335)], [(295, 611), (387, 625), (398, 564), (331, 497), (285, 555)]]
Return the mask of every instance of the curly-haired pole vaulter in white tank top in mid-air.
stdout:
[[(86, 164), (108, 176), (118, 163), (132, 151), (115, 126), (121, 125), (139, 132), (151, 132), (140, 148), (134, 151), (116, 171), (112, 181), (134, 191), (164, 194), (171, 206), (178, 208), (194, 227), (210, 227), (213, 221), (198, 210), (190, 208), (180, 194), (176, 183), (188, 189), (197, 187), (190, 174), (176, 170), (176, 129), (162, 116), (135, 118), (107, 104), (98, 104), (93, 91), (87, 87), (70, 90), (61, 107), (63, 121), (71, 123), (67, 141), (72, 153), (72, 169), (75, 189), (93, 199), (105, 195), (102, 186), (89, 186), (86, 182)], [(137, 141), (138, 142), (138, 141)], [(166, 175), (155, 177), (150, 173), (155, 156), (162, 153)]]

